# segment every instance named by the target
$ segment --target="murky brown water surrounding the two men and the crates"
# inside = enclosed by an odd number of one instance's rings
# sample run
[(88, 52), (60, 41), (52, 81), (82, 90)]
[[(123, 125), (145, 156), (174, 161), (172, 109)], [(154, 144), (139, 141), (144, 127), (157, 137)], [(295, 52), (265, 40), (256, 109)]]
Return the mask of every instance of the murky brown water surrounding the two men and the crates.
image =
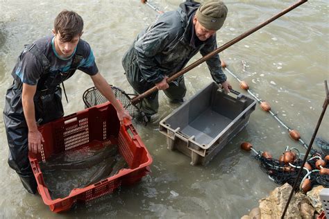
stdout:
[[(182, 1), (153, 1), (161, 10), (174, 10)], [(293, 1), (226, 1), (229, 14), (218, 32), (224, 44), (287, 8)], [(135, 35), (157, 13), (140, 1), (9, 1), (0, 0), (0, 105), (12, 82), (10, 71), (24, 44), (51, 34), (53, 19), (62, 9), (76, 10), (85, 20), (83, 39), (94, 50), (100, 72), (111, 84), (131, 91), (121, 57)], [(246, 80), (252, 91), (269, 101), (273, 111), (309, 143), (325, 98), (329, 79), (328, 1), (310, 1), (221, 53), (230, 70)], [(200, 58), (199, 55), (195, 60)], [(192, 60), (194, 61), (194, 60)], [(237, 81), (228, 73), (235, 89)], [(205, 64), (185, 76), (187, 98), (211, 81)], [(65, 83), (69, 103), (65, 113), (83, 109), (82, 94), (92, 87), (79, 72)], [(63, 101), (64, 102), (64, 101)], [(24, 191), (7, 163), (8, 146), (0, 119), (0, 216), (3, 218), (239, 218), (258, 205), (277, 185), (262, 173), (253, 155), (239, 149), (250, 141), (257, 150), (278, 157), (286, 146), (303, 147), (257, 107), (249, 124), (207, 167), (190, 166), (189, 157), (167, 150), (158, 122), (178, 105), (160, 93), (160, 112), (147, 127), (135, 128), (153, 156), (151, 175), (140, 184), (116, 191), (88, 207), (52, 213), (40, 196)], [(329, 139), (328, 112), (319, 137)]]

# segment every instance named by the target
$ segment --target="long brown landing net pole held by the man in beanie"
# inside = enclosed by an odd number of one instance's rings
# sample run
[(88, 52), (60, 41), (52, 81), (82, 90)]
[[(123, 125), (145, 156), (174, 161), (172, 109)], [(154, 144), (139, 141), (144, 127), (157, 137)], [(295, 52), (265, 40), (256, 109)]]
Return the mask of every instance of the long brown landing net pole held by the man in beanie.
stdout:
[[(181, 71), (178, 71), (173, 76), (171, 76), (170, 78), (168, 78), (167, 79), (167, 82), (169, 83), (169, 82), (175, 80), (176, 78), (178, 78), (179, 76), (182, 76), (187, 71), (189, 71), (191, 69), (194, 69), (199, 64), (202, 64), (206, 60), (209, 60), (210, 58), (212, 58), (213, 55), (216, 55), (217, 53), (220, 53), (221, 51), (223, 51), (224, 49), (227, 49), (228, 47), (232, 46), (233, 44), (236, 44), (237, 42), (239, 42), (240, 40), (244, 39), (245, 37), (248, 37), (248, 35), (251, 35), (255, 31), (257, 31), (260, 28), (262, 28), (263, 26), (266, 26), (267, 24), (269, 24), (272, 21), (278, 19), (282, 15), (285, 15), (287, 12), (293, 10), (294, 8), (297, 8), (298, 6), (300, 6), (301, 4), (305, 3), (306, 1), (307, 0), (301, 0), (301, 1), (298, 1), (298, 2), (294, 3), (292, 6), (289, 6), (285, 10), (282, 10), (282, 12), (278, 13), (277, 15), (274, 15), (273, 17), (271, 17), (267, 21), (264, 21), (263, 23), (259, 24), (258, 26), (255, 26), (255, 28), (251, 28), (251, 30), (248, 30), (245, 33), (242, 33), (242, 35), (239, 35), (238, 37), (235, 37), (230, 42), (227, 42), (226, 44), (223, 44), (223, 46), (220, 46), (218, 49), (215, 49), (214, 51), (212, 51), (208, 55), (203, 56), (203, 58), (201, 58), (199, 60), (196, 60), (196, 62), (193, 62), (192, 64), (190, 64), (189, 66), (185, 67)], [(133, 105), (135, 105), (136, 103), (140, 103), (140, 101), (143, 98), (145, 98), (146, 96), (149, 96), (150, 94), (152, 94), (153, 92), (155, 92), (157, 90), (158, 90), (158, 88), (156, 86), (154, 86), (151, 89), (148, 89), (147, 91), (145, 91), (143, 94), (140, 94), (139, 96), (135, 96), (133, 99), (131, 99), (131, 103), (133, 103)]]

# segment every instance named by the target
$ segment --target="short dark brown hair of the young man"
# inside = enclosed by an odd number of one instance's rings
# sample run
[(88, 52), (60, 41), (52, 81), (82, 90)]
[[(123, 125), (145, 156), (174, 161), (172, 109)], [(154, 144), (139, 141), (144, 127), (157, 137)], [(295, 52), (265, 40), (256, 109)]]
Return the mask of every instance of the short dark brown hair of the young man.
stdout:
[(70, 42), (83, 31), (83, 19), (74, 11), (62, 10), (53, 22), (55, 33), (60, 33), (61, 40)]

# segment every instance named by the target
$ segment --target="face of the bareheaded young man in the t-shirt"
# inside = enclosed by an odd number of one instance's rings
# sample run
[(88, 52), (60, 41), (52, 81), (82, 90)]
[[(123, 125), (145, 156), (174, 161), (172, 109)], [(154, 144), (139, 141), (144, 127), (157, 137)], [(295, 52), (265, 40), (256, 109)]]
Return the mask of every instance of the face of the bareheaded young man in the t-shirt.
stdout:
[(53, 30), (53, 35), (55, 35), (54, 43), (56, 52), (63, 58), (68, 58), (72, 55), (72, 53), (74, 53), (76, 45), (78, 45), (81, 37), (81, 35), (76, 35), (70, 42), (63, 42), (62, 37), (60, 37), (60, 33), (55, 33)]

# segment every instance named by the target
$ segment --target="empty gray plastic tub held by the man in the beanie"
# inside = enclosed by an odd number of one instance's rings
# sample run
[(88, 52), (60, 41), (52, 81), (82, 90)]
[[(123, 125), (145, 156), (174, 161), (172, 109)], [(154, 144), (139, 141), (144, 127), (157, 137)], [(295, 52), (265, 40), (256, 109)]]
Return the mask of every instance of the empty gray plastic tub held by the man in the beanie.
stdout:
[(206, 165), (248, 123), (256, 101), (233, 91), (225, 94), (215, 82), (160, 121), (169, 150), (192, 158), (192, 165)]

